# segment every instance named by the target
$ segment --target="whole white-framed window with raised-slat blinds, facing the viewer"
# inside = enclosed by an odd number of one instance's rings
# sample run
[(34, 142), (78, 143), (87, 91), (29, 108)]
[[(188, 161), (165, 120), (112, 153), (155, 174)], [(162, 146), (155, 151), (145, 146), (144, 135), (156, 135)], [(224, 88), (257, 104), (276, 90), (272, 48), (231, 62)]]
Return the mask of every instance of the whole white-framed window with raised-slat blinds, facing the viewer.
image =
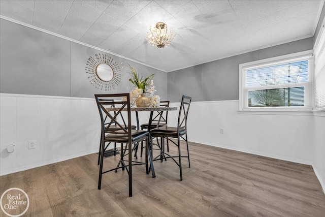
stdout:
[(239, 65), (239, 110), (312, 108), (312, 51)]

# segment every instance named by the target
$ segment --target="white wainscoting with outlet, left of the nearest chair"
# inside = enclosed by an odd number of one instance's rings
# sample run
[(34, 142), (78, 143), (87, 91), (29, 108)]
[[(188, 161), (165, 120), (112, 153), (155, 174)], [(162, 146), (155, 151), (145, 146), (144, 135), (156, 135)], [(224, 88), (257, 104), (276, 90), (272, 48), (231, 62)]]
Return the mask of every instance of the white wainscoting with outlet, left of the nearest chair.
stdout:
[[(94, 99), (1, 94), (0, 105), (0, 175), (98, 151)], [(28, 140), (36, 140), (35, 149), (28, 149)]]

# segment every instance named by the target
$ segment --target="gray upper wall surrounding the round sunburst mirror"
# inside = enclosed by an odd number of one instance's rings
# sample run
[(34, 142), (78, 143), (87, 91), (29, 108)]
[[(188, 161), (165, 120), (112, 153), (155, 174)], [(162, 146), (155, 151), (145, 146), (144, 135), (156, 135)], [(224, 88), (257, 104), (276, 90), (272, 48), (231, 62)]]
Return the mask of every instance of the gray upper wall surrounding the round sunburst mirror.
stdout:
[[(93, 98), (94, 94), (129, 92), (128, 74), (112, 91), (96, 89), (85, 67), (90, 56), (104, 53), (78, 43), (0, 19), (0, 92)], [(119, 64), (126, 61), (145, 75), (154, 75), (156, 94), (167, 99), (167, 73), (107, 53)]]

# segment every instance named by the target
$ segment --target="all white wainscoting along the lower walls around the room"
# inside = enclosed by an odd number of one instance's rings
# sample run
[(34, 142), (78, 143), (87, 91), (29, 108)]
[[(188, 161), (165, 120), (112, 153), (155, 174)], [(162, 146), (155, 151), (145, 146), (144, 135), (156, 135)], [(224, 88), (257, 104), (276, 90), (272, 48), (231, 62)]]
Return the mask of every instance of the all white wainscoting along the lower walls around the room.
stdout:
[[(98, 151), (100, 118), (94, 99), (0, 96), (0, 175)], [(179, 106), (179, 103), (171, 103), (171, 106)], [(324, 186), (324, 117), (312, 116), (311, 112), (270, 115), (239, 114), (237, 110), (238, 100), (192, 102), (189, 140), (313, 165)], [(177, 125), (178, 112), (169, 112), (170, 125)], [(146, 122), (148, 115), (140, 112), (140, 122)], [(133, 123), (136, 123), (135, 115)], [(224, 134), (220, 134), (220, 128)], [(28, 140), (36, 140), (36, 149), (27, 149)], [(6, 150), (10, 144), (15, 145), (13, 153)]]

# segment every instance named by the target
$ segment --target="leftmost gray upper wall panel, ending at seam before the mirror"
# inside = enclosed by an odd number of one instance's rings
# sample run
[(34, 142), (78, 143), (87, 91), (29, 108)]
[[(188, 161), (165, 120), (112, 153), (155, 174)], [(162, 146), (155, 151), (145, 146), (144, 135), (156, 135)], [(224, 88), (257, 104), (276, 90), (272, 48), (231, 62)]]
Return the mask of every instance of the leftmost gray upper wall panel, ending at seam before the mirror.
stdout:
[(70, 96), (70, 41), (0, 19), (0, 92)]

